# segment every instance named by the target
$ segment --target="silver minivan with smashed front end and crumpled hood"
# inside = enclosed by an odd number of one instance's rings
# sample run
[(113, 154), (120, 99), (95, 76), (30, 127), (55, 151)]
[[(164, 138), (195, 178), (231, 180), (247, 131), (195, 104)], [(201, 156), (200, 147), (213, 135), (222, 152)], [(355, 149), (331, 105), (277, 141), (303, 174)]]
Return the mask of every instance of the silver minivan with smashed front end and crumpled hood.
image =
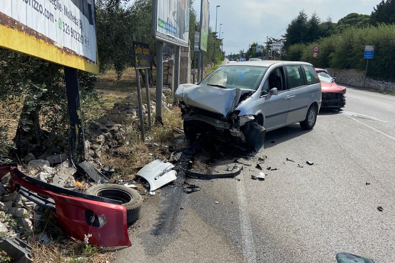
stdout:
[(258, 152), (266, 131), (297, 122), (303, 129), (314, 127), (321, 84), (306, 62), (235, 62), (197, 85), (179, 85), (175, 98), (188, 139), (208, 135)]

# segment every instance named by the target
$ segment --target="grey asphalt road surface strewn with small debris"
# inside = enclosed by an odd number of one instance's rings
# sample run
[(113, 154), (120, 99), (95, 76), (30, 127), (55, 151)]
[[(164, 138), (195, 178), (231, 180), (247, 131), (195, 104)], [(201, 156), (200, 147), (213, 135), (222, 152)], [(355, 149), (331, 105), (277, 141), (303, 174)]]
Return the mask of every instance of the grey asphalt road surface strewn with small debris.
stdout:
[[(274, 130), (255, 156), (210, 164), (239, 159), (240, 180), (196, 180), (202, 190), (191, 194), (175, 183), (147, 197), (133, 246), (115, 262), (336, 262), (338, 252), (395, 262), (395, 97), (346, 95), (344, 110), (322, 110), (313, 130)], [(260, 172), (264, 181), (251, 178)]]

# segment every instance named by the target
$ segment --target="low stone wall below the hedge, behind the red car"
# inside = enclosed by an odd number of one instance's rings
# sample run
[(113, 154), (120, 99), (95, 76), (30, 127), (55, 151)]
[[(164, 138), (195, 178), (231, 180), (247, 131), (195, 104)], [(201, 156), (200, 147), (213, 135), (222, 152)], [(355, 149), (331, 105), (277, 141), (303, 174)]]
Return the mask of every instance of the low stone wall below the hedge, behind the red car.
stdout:
[[(337, 83), (354, 87), (363, 87), (365, 81), (365, 71), (356, 69), (336, 69), (327, 68), (330, 76), (337, 79)], [(385, 91), (395, 91), (395, 83), (388, 81), (374, 80), (366, 77), (366, 87), (379, 88)]]

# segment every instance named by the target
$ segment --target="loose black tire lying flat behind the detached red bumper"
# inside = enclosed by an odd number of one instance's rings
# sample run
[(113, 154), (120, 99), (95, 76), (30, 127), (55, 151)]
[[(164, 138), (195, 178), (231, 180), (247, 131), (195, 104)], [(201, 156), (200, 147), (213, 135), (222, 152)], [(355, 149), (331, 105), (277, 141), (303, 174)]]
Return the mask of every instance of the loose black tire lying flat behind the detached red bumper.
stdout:
[(136, 222), (140, 216), (142, 197), (136, 190), (127, 186), (113, 183), (98, 184), (89, 187), (86, 194), (121, 201), (126, 208), (128, 224)]

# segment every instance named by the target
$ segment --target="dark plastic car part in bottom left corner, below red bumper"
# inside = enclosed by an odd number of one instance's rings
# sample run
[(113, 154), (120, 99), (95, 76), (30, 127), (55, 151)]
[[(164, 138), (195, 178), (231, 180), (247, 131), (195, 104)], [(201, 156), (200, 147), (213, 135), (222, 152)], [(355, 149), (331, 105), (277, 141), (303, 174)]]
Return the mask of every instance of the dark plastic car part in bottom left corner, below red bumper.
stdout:
[(20, 238), (0, 237), (0, 249), (4, 250), (7, 255), (15, 259), (16, 262), (33, 262), (31, 258), (31, 247)]

